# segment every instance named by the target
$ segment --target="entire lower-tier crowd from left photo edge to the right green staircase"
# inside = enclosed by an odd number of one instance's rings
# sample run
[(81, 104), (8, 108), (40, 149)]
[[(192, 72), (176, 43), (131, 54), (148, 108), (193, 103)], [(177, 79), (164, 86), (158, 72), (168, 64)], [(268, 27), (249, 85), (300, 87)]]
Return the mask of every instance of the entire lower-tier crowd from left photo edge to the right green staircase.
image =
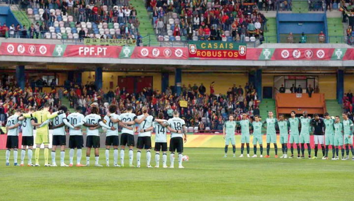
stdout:
[[(236, 119), (241, 119), (243, 112), (251, 118), (260, 112), (258, 95), (253, 85), (248, 83), (244, 88), (241, 85), (236, 87), (234, 84), (225, 94), (218, 95), (214, 93), (213, 84), (209, 86), (210, 94), (206, 92), (203, 84), (188, 87), (183, 84), (180, 96), (171, 88), (160, 92), (151, 87), (145, 88), (138, 94), (129, 94), (125, 88), (119, 88), (119, 86), (104, 93), (101, 89), (96, 90), (93, 82), (85, 85), (70, 82), (64, 87), (53, 86), (52, 91), (40, 90), (42, 87), (51, 86), (42, 82), (41, 79), (27, 84), (25, 90), (21, 90), (16, 85), (16, 81), (13, 80), (1, 82), (0, 121), (2, 125), (6, 124), (6, 119), (17, 108), (26, 112), (29, 107), (40, 109), (45, 102), (49, 102), (52, 105), (51, 111), (57, 111), (63, 97), (67, 97), (70, 101), (71, 108), (80, 106), (85, 115), (90, 113), (89, 106), (93, 102), (98, 103), (102, 116), (106, 115), (109, 104), (118, 105), (118, 114), (131, 105), (136, 115), (141, 114), (143, 106), (148, 106), (151, 115), (157, 116), (158, 112), (163, 112), (166, 119), (172, 118), (173, 111), (178, 110), (186, 126), (198, 127), (199, 130), (222, 130), (224, 121), (230, 113), (234, 114)], [(183, 101), (186, 107), (181, 106)], [(73, 111), (69, 109), (68, 113)]]

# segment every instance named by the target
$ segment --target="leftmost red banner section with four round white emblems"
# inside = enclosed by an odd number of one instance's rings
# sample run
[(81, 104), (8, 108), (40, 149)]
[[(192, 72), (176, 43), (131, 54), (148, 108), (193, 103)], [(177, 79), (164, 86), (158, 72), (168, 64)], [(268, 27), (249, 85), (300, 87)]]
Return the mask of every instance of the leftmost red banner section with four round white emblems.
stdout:
[(52, 56), (56, 45), (29, 43), (1, 43), (0, 55)]

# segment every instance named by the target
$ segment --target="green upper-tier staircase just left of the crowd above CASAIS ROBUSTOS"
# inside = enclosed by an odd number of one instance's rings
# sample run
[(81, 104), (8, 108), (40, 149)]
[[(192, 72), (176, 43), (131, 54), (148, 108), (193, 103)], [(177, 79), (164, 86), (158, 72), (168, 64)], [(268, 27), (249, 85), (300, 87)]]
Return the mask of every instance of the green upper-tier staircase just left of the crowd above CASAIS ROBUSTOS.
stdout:
[(144, 1), (130, 0), (129, 3), (131, 3), (135, 7), (135, 9), (137, 10), (137, 17), (139, 18), (139, 21), (140, 21), (139, 32), (140, 32), (140, 35), (144, 37), (143, 38), (144, 46), (147, 46), (149, 44), (150, 44), (150, 46), (159, 45), (159, 43), (156, 39), (156, 35), (154, 32), (151, 20), (149, 19), (148, 11), (145, 8)]

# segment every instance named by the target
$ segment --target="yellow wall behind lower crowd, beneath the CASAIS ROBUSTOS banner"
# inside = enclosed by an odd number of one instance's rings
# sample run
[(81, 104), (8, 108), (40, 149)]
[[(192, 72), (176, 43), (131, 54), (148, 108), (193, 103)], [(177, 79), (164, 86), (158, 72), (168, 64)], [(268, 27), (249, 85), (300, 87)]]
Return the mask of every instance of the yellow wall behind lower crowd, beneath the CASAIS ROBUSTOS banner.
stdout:
[[(182, 71), (183, 72), (183, 71)], [(182, 85), (188, 84), (192, 86), (197, 84), (199, 87), (201, 83), (207, 89), (207, 94), (210, 94), (210, 83), (215, 82), (214, 90), (215, 94), (226, 94), (229, 88), (232, 88), (234, 84), (238, 87), (241, 85), (244, 88), (246, 82), (248, 82), (248, 74), (238, 73), (238, 74), (206, 74), (206, 73), (182, 73)], [(175, 74), (169, 75), (169, 86), (175, 85)]]

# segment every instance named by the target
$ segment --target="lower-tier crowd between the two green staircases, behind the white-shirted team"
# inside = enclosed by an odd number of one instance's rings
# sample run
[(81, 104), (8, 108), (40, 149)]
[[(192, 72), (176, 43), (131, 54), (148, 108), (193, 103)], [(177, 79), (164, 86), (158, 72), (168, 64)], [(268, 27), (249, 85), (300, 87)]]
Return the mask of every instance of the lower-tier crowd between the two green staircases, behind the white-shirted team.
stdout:
[[(145, 88), (138, 94), (129, 94), (125, 88), (119, 86), (103, 93), (100, 89), (96, 91), (93, 83), (84, 86), (71, 84), (67, 90), (71, 107), (80, 106), (86, 114), (89, 114), (89, 105), (92, 102), (98, 102), (101, 115), (106, 114), (109, 104), (118, 105), (118, 114), (131, 105), (136, 115), (141, 114), (143, 106), (148, 106), (151, 115), (157, 116), (158, 112), (163, 112), (166, 119), (172, 118), (173, 111), (178, 110), (187, 126), (198, 127), (199, 130), (222, 130), (224, 120), (230, 113), (235, 114), (236, 119), (240, 119), (243, 112), (250, 117), (259, 114), (259, 101), (252, 84), (246, 84), (244, 88), (236, 87), (234, 84), (226, 94), (218, 95), (213, 92), (213, 84), (210, 84), (210, 94), (206, 93), (203, 84), (188, 87), (183, 84), (180, 96), (171, 88), (160, 92), (151, 87)], [(186, 107), (181, 107), (183, 101), (186, 101)]]

